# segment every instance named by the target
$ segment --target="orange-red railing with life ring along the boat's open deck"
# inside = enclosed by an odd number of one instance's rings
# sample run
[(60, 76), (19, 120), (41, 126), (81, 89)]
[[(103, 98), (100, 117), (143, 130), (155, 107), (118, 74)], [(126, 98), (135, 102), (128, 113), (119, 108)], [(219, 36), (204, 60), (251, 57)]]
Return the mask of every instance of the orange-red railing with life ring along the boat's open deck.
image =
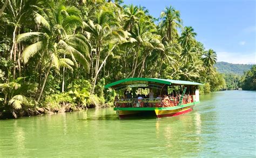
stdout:
[(187, 95), (183, 97), (183, 101), (179, 104), (178, 97), (170, 98), (143, 98), (143, 99), (117, 99), (114, 100), (115, 107), (172, 107), (194, 102), (195, 95)]

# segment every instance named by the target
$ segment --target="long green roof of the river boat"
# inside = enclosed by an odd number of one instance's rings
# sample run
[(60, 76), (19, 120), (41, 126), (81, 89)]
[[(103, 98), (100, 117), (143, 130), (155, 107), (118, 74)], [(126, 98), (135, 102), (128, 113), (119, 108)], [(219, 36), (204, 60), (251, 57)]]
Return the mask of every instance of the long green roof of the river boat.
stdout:
[(191, 81), (183, 81), (183, 80), (171, 80), (171, 79), (159, 79), (159, 78), (127, 78), (116, 81), (114, 83), (105, 85), (105, 88), (109, 87), (120, 87), (127, 86), (132, 84), (165, 84), (165, 85), (203, 85), (200, 83), (194, 83)]

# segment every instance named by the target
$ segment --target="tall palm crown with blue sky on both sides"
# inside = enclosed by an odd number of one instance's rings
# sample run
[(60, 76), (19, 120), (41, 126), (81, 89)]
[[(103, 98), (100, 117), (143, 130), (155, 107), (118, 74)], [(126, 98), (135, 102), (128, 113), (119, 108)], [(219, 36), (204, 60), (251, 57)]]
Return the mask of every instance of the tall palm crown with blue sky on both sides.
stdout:
[(160, 14), (161, 22), (159, 28), (161, 35), (164, 35), (163, 40), (172, 43), (174, 38), (178, 37), (177, 28), (182, 29), (182, 20), (180, 12), (175, 10), (172, 6), (165, 8)]

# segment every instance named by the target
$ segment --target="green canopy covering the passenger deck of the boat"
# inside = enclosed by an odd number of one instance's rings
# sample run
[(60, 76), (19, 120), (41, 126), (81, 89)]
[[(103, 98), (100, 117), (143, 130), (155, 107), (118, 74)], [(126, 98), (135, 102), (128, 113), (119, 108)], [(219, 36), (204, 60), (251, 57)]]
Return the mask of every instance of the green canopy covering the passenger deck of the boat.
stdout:
[[(151, 86), (149, 86), (151, 85)], [(191, 81), (158, 79), (158, 78), (127, 78), (105, 85), (105, 88), (112, 87), (114, 89), (122, 89), (125, 87), (152, 87), (163, 85), (203, 85)]]

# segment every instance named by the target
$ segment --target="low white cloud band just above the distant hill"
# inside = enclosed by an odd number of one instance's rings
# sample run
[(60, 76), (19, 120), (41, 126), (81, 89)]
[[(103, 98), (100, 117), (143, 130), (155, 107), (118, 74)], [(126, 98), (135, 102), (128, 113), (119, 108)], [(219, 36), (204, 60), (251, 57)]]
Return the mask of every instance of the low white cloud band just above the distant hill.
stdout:
[(255, 64), (256, 52), (240, 53), (240, 52), (217, 52), (218, 61), (225, 61), (233, 64)]

